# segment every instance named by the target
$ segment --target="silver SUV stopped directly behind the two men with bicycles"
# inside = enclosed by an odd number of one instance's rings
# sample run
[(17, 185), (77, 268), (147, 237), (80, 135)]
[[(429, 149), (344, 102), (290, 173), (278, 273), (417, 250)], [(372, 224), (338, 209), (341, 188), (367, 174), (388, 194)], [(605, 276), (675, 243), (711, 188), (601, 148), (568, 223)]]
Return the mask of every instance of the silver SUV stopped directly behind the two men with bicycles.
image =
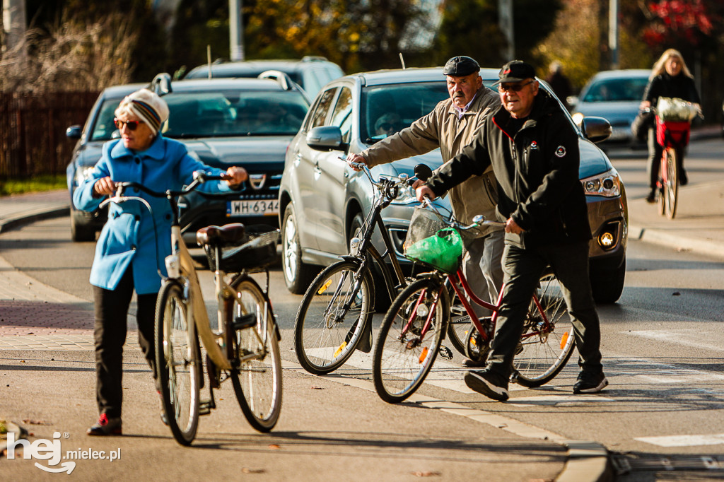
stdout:
[[(484, 83), (494, 83), (497, 72), (482, 69)], [(544, 83), (542, 87), (550, 91)], [(304, 292), (317, 266), (348, 253), (351, 233), (369, 213), (373, 195), (369, 182), (339, 157), (361, 152), (408, 127), (448, 96), (441, 68), (358, 73), (320, 90), (287, 150), (279, 186), (282, 263), (291, 292)], [(579, 176), (594, 237), (590, 248), (594, 296), (599, 302), (613, 302), (620, 296), (626, 274), (626, 194), (605, 153), (584, 136), (587, 131), (589, 138), (604, 140), (611, 127), (605, 119), (595, 117), (584, 119), (581, 130), (572, 119), (571, 125), (580, 134)], [(412, 175), (418, 163), (436, 168), (442, 164), (439, 150), (375, 166), (372, 173), (375, 178), (403, 172)], [(402, 262), (406, 261), (402, 244), (417, 204), (409, 191), (382, 211), (384, 226)], [(378, 240), (377, 245), (382, 243)]]

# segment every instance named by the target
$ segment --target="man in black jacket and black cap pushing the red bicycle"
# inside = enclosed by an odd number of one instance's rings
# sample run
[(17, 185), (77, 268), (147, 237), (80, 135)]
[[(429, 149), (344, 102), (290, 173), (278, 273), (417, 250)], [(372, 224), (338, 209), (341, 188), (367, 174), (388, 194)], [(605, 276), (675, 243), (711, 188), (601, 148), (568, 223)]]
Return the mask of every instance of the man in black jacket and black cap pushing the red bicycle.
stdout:
[(418, 187), (435, 198), (492, 164), (497, 213), (505, 220), (502, 307), (487, 367), (468, 371), (466, 384), (492, 399), (508, 399), (508, 379), (523, 320), (543, 270), (551, 266), (573, 321), (581, 373), (573, 393), (600, 392), (608, 381), (588, 272), (586, 197), (578, 181), (578, 135), (560, 105), (539, 90), (531, 65), (514, 60), (498, 74), (502, 106), (485, 119), (473, 143)]

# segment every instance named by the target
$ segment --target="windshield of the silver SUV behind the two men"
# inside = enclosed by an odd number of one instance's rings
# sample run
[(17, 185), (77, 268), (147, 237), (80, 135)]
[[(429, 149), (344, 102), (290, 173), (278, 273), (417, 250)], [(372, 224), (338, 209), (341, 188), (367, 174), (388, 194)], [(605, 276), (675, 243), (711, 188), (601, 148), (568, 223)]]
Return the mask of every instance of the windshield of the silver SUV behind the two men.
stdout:
[(439, 101), (448, 96), (444, 79), (364, 88), (360, 138), (367, 144), (376, 143), (429, 114)]

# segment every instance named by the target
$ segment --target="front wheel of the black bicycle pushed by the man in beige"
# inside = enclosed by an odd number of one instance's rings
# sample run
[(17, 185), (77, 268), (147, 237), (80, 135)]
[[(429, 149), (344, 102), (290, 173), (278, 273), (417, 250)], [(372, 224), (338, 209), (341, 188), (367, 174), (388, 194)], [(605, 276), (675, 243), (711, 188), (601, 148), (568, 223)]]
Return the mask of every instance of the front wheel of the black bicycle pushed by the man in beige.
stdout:
[[(369, 270), (360, 274), (359, 268), (354, 261), (337, 261), (304, 293), (294, 321), (294, 349), (309, 373), (324, 375), (340, 368), (362, 341), (362, 334), (371, 329), (374, 287)], [(350, 300), (355, 276), (360, 275), (359, 289)], [(343, 313), (346, 303), (350, 309)]]

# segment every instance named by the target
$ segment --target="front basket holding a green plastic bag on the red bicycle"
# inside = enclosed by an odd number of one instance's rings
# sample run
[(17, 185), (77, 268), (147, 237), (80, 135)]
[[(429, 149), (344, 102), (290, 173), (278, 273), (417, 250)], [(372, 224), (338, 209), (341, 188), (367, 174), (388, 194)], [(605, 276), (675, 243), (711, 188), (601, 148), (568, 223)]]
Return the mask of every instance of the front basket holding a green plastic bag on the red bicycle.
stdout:
[(450, 274), (463, 260), (463, 238), (437, 213), (418, 207), (410, 219), (403, 250), (406, 258)]

